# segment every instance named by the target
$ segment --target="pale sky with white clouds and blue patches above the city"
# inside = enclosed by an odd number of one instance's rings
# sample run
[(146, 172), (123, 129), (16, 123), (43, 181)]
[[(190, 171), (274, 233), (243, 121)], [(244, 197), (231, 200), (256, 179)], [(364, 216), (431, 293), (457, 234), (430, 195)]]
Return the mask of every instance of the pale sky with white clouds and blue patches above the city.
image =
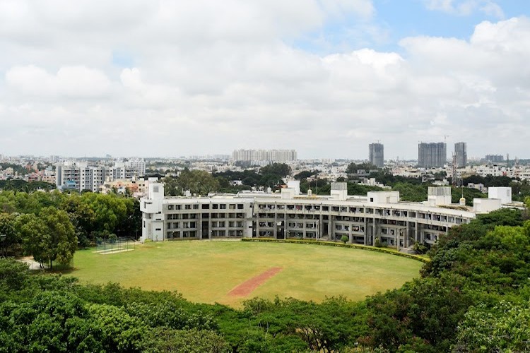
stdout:
[(0, 154), (530, 158), (530, 1), (0, 0)]

